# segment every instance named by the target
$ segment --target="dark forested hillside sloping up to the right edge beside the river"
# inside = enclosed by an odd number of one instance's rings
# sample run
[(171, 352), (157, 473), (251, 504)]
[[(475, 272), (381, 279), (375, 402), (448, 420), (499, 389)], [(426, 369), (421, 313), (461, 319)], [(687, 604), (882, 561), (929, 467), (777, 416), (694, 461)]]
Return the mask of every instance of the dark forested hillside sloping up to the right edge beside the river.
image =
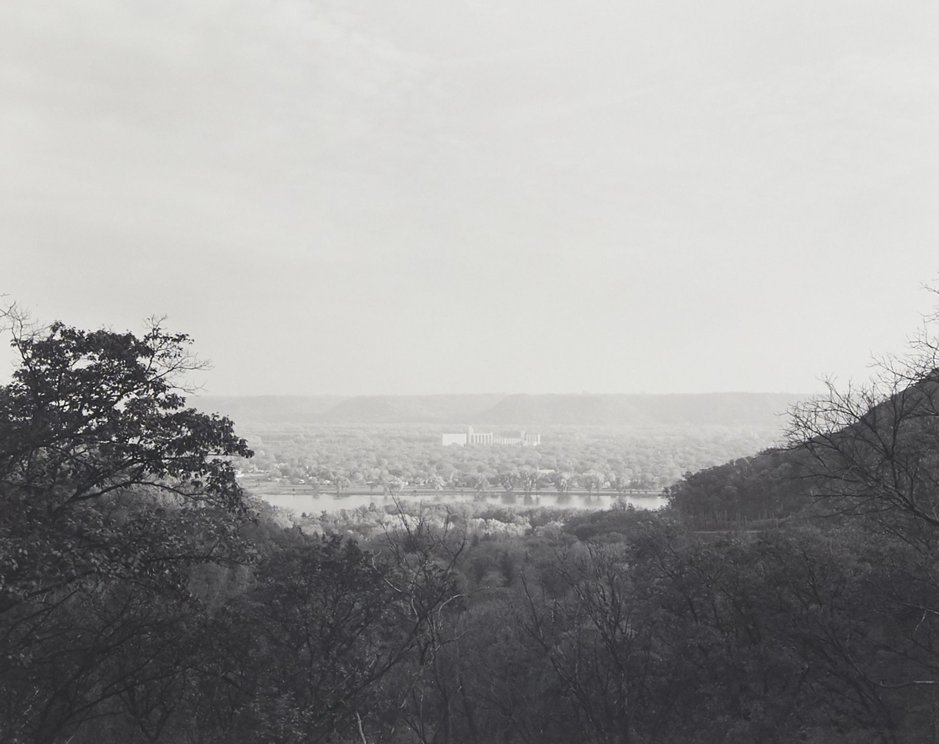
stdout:
[(688, 474), (667, 490), (671, 505), (699, 522), (901, 515), (939, 526), (939, 360), (930, 342), (917, 348), (870, 386), (832, 385), (794, 406), (788, 447)]

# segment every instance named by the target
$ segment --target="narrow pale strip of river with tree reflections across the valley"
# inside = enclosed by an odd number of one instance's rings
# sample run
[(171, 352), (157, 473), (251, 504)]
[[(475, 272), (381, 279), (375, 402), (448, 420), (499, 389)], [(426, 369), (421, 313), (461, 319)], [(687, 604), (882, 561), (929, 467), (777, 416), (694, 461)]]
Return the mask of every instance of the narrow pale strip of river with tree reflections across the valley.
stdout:
[[(275, 507), (290, 509), (301, 514), (303, 512), (318, 514), (321, 511), (338, 511), (339, 509), (358, 509), (375, 504), (376, 507), (391, 507), (394, 499), (391, 496), (371, 493), (344, 493), (337, 496), (335, 493), (300, 494), (300, 493), (259, 493), (265, 501)], [(550, 509), (590, 509), (599, 511), (610, 509), (617, 502), (623, 501), (632, 504), (636, 509), (658, 509), (666, 505), (666, 499), (661, 495), (604, 493), (590, 495), (586, 493), (543, 493), (541, 495), (525, 496), (504, 495), (501, 493), (461, 494), (445, 493), (441, 495), (408, 495), (402, 493), (397, 498), (406, 504), (461, 504), (465, 502), (485, 503), (492, 506), (508, 506), (516, 509), (536, 509), (546, 507)]]

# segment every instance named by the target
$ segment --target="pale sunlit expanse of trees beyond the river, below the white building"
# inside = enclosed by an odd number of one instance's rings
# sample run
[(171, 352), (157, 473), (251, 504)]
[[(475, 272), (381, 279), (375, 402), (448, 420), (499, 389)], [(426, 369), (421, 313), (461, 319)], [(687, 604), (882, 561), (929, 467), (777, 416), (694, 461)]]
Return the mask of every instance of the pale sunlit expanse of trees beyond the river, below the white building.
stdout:
[(407, 489), (661, 490), (689, 472), (778, 439), (777, 430), (729, 427), (554, 428), (543, 445), (443, 447), (410, 427), (303, 427), (250, 431), (249, 475), (325, 491)]

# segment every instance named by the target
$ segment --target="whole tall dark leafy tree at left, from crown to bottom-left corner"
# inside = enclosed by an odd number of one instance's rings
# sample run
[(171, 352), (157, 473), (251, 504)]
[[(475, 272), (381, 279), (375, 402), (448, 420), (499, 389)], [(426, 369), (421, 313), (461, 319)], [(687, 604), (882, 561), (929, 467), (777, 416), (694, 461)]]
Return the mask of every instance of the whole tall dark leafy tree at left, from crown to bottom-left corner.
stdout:
[(0, 738), (52, 742), (162, 674), (156, 649), (118, 661), (175, 622), (153, 602), (185, 600), (189, 567), (251, 560), (231, 464), (251, 450), (185, 408), (180, 377), (201, 368), (186, 335), (5, 317), (20, 365), (0, 387)]

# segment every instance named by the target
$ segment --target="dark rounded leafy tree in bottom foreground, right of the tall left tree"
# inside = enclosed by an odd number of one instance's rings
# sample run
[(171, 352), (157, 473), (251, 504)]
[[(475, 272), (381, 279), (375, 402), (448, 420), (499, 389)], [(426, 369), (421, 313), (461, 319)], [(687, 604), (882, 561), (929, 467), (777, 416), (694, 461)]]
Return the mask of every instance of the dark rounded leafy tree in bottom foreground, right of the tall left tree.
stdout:
[(291, 540), (271, 553), (229, 610), (254, 661), (239, 682), (251, 701), (229, 736), (326, 741), (362, 721), (376, 725), (386, 705), (378, 683), (406, 660), (430, 612), (402, 579), (338, 536)]

